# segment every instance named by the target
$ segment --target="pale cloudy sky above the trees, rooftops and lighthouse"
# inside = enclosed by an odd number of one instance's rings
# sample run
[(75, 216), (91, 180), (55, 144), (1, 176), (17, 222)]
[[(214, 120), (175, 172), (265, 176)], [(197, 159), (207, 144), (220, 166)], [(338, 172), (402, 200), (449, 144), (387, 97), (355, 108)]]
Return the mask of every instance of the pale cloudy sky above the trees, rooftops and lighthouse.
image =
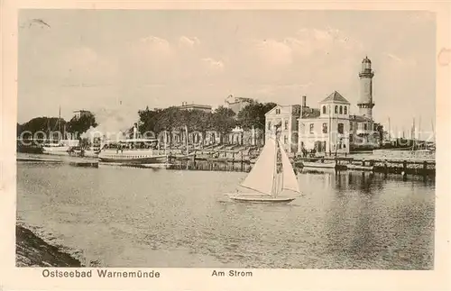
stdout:
[[(38, 21), (41, 20), (41, 21)], [(410, 131), (435, 120), (434, 14), (402, 11), (22, 10), (18, 122), (134, 123), (146, 106), (224, 105), (228, 95), (310, 107), (333, 91), (358, 113), (373, 62), (373, 118)]]

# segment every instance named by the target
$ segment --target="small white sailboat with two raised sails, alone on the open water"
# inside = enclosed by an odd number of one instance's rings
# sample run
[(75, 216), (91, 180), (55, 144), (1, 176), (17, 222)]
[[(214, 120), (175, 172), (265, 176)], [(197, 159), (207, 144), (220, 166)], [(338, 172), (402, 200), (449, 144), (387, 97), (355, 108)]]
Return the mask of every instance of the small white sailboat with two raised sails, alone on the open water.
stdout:
[[(278, 156), (281, 157), (281, 168)], [(241, 183), (250, 193), (227, 194), (229, 198), (241, 202), (261, 203), (289, 203), (297, 196), (287, 193), (300, 194), (298, 179), (291, 166), (287, 153), (278, 139), (270, 138), (265, 143), (262, 153), (258, 157), (251, 172)]]

